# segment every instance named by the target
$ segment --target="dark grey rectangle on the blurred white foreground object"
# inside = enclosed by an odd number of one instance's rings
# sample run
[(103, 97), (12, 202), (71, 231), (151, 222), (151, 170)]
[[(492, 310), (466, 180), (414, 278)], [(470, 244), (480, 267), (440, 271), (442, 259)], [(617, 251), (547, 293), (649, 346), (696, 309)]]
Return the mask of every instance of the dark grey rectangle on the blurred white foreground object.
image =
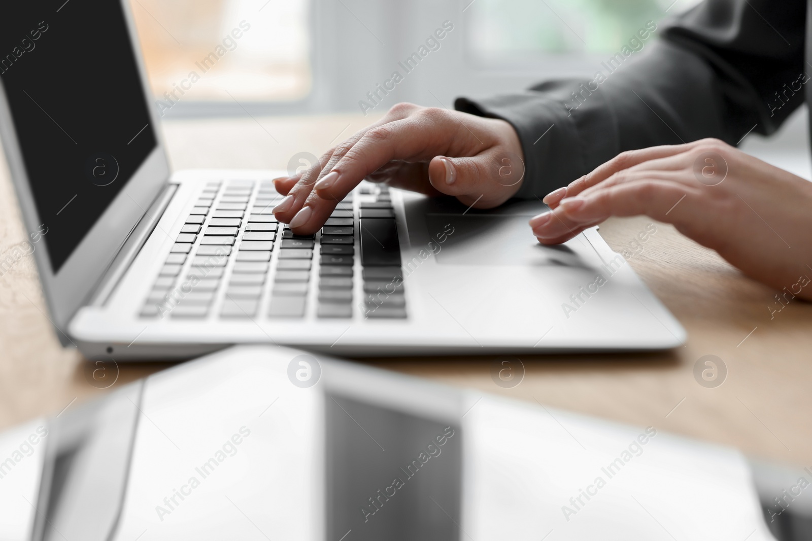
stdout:
[(456, 424), (328, 394), (326, 477), (326, 539), (460, 539)]

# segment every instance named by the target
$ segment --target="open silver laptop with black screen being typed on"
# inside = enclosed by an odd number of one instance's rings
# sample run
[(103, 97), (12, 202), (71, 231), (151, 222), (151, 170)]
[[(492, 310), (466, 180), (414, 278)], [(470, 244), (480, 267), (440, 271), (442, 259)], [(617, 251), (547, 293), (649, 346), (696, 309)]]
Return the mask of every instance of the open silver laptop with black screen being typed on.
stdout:
[(63, 344), (184, 359), (236, 343), (359, 356), (685, 341), (595, 228), (539, 245), (538, 200), (477, 210), (364, 182), (300, 238), (271, 213), (286, 171), (172, 173), (127, 5), (15, 2), (0, 20), (0, 136)]

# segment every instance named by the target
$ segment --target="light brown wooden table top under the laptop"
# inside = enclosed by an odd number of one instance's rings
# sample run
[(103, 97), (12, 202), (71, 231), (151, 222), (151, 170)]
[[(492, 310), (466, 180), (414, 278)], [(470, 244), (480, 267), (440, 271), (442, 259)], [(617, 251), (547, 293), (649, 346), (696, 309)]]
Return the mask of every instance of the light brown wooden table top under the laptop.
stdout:
[[(296, 152), (316, 155), (371, 122), (360, 115), (166, 122), (175, 169), (287, 168)], [(617, 251), (650, 221), (611, 220), (601, 234)], [(812, 466), (812, 305), (793, 301), (771, 318), (773, 295), (709, 251), (658, 224), (630, 264), (688, 330), (676, 350), (651, 354), (522, 357), (513, 389), (490, 379), (495, 357), (366, 359), (410, 374), (637, 425), (654, 425), (746, 453)], [(0, 253), (24, 239), (5, 165), (0, 165)], [(707, 389), (693, 376), (706, 354), (727, 380)], [(63, 349), (45, 316), (32, 260), (0, 277), (0, 428), (62, 410), (101, 393), (84, 378), (81, 355)], [(120, 367), (118, 384), (166, 363)]]

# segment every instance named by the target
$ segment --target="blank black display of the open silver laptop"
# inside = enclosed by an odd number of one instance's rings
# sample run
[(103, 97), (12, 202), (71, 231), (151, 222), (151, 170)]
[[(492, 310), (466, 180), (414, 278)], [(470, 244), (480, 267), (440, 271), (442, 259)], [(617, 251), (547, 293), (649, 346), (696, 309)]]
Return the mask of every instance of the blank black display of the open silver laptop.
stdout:
[(121, 3), (6, 2), (0, 80), (57, 273), (157, 144)]

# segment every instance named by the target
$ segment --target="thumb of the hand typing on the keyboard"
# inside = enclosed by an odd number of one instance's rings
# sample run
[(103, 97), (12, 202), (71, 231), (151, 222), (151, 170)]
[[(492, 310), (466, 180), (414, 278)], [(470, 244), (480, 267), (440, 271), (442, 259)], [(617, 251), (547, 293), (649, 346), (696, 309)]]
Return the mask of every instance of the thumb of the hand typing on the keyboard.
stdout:
[(502, 204), (518, 191), (525, 164), (511, 152), (490, 150), (474, 157), (437, 156), (429, 164), (429, 181), (446, 195), (482, 197), (477, 207)]

